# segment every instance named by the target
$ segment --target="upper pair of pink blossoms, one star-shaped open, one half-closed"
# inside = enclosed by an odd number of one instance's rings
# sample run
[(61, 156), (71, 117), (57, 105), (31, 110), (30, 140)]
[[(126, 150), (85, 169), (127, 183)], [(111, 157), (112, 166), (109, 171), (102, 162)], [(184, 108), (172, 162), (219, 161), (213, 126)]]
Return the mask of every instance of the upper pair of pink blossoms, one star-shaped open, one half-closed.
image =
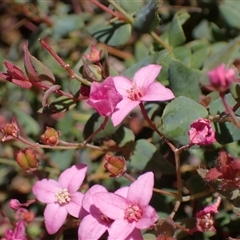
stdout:
[(155, 64), (142, 67), (132, 81), (124, 76), (115, 76), (102, 83), (94, 82), (87, 103), (100, 115), (111, 116), (113, 125), (117, 126), (141, 102), (174, 98), (170, 89), (155, 81), (161, 68)]

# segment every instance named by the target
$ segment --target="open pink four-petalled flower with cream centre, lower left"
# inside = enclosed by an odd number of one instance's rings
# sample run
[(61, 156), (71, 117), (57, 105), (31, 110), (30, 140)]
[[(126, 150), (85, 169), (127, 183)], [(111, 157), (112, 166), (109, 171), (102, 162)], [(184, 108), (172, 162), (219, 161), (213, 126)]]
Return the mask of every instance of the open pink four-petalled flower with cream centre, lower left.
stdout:
[(77, 164), (62, 172), (58, 181), (42, 179), (34, 184), (34, 195), (40, 202), (47, 204), (44, 219), (49, 234), (54, 234), (60, 229), (68, 213), (73, 217), (79, 217), (83, 194), (77, 191), (86, 171), (85, 164)]

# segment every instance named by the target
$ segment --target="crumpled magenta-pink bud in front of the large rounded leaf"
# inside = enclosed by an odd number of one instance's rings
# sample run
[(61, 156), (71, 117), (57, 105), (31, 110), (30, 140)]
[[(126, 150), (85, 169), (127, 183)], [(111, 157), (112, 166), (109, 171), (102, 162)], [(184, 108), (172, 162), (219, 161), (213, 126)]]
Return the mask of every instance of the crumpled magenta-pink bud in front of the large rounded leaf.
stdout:
[(205, 118), (199, 118), (194, 121), (188, 131), (190, 144), (208, 145), (216, 142), (215, 132), (212, 129), (211, 122)]

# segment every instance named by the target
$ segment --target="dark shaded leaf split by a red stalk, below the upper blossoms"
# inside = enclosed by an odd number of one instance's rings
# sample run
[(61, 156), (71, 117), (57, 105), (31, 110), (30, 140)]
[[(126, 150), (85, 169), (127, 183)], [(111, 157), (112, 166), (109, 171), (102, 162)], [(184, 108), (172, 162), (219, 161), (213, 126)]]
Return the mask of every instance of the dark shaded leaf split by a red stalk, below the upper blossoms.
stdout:
[[(84, 127), (84, 130), (83, 130), (84, 138), (86, 139), (93, 132), (95, 132), (97, 129), (99, 129), (99, 127), (101, 126), (103, 121), (104, 121), (103, 116), (100, 116), (96, 112), (93, 113), (92, 116), (88, 119), (88, 121)], [(120, 125), (118, 127), (114, 127), (111, 119), (108, 119), (108, 122), (107, 122), (104, 130), (100, 131), (92, 140), (99, 141), (105, 137), (110, 137), (110, 136), (112, 136), (112, 134), (114, 134), (118, 130), (119, 127), (120, 127)]]

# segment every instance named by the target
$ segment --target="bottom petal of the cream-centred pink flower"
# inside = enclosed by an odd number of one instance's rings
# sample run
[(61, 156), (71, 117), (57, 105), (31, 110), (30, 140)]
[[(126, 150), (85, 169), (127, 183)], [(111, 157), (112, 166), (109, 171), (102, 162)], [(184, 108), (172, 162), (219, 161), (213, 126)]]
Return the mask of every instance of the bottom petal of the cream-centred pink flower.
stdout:
[(58, 203), (50, 203), (44, 210), (44, 220), (47, 232), (56, 233), (67, 218), (67, 210)]

